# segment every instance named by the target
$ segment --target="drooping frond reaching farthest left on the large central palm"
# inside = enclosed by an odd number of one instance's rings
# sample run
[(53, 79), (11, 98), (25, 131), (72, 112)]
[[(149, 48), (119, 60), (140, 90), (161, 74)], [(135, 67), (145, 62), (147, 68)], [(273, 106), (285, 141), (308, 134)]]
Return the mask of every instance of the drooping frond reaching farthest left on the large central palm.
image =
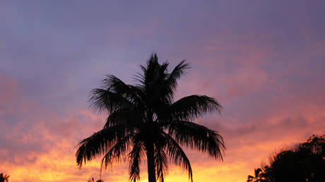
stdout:
[(76, 162), (82, 166), (99, 154), (104, 154), (108, 148), (114, 145), (120, 138), (124, 138), (129, 131), (124, 126), (112, 126), (94, 133), (88, 138), (81, 140), (76, 152)]

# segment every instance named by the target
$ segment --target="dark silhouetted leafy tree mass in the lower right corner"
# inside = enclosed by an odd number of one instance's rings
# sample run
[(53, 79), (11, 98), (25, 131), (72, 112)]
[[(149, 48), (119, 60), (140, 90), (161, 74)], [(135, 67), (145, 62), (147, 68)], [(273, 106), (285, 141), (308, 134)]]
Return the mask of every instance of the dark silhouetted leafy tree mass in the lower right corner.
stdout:
[[(262, 164), (258, 178), (248, 181), (325, 181), (325, 135), (312, 135), (293, 150), (284, 150)], [(253, 180), (252, 180), (253, 181)]]

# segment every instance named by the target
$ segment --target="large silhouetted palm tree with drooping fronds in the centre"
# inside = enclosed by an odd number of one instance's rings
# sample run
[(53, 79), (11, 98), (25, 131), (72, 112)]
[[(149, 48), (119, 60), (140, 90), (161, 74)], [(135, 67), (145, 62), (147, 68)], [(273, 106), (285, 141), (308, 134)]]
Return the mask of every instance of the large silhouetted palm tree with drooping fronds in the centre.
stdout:
[(168, 162), (186, 169), (192, 179), (191, 164), (182, 146), (205, 152), (223, 160), (225, 145), (218, 132), (194, 123), (208, 112), (222, 107), (205, 95), (191, 95), (174, 102), (177, 80), (189, 64), (181, 61), (172, 72), (168, 62), (158, 63), (150, 56), (137, 85), (127, 85), (114, 75), (102, 80), (102, 87), (90, 94), (90, 107), (106, 111), (109, 116), (101, 131), (81, 140), (76, 152), (78, 166), (104, 154), (102, 167), (112, 166), (122, 158), (129, 159), (129, 180), (140, 179), (139, 164), (144, 157), (148, 164), (148, 181), (164, 181)]

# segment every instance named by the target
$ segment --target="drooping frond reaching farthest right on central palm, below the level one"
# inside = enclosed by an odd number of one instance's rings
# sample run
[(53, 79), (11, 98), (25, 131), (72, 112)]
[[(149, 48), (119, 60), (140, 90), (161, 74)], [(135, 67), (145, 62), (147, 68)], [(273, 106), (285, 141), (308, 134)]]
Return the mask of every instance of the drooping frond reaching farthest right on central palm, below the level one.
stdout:
[(216, 131), (189, 121), (172, 121), (161, 124), (165, 125), (168, 133), (181, 145), (207, 152), (211, 157), (223, 160), (225, 142)]

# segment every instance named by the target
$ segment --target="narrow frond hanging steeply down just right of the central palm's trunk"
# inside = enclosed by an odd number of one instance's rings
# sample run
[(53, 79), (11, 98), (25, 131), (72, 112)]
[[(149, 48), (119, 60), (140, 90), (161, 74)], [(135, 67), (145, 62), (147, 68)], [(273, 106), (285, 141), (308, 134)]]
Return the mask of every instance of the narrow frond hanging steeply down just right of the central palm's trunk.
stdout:
[(187, 169), (189, 178), (191, 179), (191, 182), (193, 182), (191, 163), (189, 162), (187, 155), (182, 150), (182, 147), (180, 147), (178, 143), (169, 134), (165, 132), (163, 134), (165, 135), (167, 142), (166, 147), (168, 157), (170, 157), (172, 162), (174, 162), (178, 166)]

